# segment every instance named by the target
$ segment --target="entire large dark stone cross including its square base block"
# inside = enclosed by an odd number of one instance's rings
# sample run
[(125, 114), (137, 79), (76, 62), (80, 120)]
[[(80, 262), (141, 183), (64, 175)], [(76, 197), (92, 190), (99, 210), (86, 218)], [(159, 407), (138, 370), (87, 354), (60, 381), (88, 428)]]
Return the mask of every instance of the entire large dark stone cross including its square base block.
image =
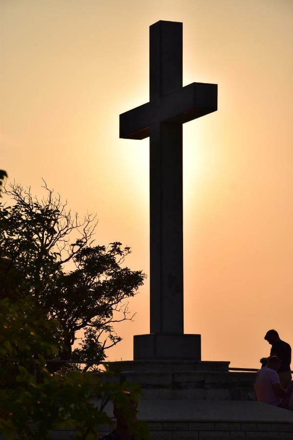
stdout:
[[(131, 73), (133, 74), (133, 73)], [(217, 110), (217, 85), (182, 87), (182, 23), (149, 28), (149, 102), (120, 115), (120, 137), (149, 136), (150, 334), (134, 359), (200, 359), (183, 328), (182, 124)]]

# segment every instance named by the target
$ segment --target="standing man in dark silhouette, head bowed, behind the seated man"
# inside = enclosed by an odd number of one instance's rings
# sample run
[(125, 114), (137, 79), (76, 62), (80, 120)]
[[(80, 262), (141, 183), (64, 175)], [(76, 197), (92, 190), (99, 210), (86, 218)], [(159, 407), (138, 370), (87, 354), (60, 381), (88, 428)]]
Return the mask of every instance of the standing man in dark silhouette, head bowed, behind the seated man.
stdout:
[[(277, 356), (281, 360), (281, 367), (279, 369), (280, 383), (283, 388), (289, 387), (292, 381), (291, 374), (291, 347), (287, 342), (280, 339), (279, 334), (276, 330), (268, 330), (265, 335), (265, 340), (268, 341), (271, 348), (270, 356)], [(263, 357), (260, 359), (262, 364), (266, 364), (268, 358)]]

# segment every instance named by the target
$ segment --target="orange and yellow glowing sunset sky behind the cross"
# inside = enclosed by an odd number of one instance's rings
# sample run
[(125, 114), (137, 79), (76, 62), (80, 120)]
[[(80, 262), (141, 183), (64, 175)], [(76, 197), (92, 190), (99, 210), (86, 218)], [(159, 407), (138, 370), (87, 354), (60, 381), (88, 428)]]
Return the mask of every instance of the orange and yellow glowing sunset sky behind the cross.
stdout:
[[(184, 125), (185, 332), (203, 360), (258, 367), (275, 328), (293, 344), (293, 1), (0, 0), (0, 168), (73, 211), (149, 274), (148, 139), (119, 113), (148, 101), (148, 27), (183, 22), (183, 82), (218, 84)], [(149, 280), (109, 360), (149, 331)]]

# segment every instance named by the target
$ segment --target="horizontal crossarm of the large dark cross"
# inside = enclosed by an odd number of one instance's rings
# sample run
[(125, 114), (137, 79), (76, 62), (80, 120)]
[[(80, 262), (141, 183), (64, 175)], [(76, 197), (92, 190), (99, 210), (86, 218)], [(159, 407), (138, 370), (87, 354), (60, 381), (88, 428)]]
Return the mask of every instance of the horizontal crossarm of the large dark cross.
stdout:
[(217, 110), (216, 84), (192, 83), (120, 115), (120, 137), (144, 139), (154, 123), (184, 124)]

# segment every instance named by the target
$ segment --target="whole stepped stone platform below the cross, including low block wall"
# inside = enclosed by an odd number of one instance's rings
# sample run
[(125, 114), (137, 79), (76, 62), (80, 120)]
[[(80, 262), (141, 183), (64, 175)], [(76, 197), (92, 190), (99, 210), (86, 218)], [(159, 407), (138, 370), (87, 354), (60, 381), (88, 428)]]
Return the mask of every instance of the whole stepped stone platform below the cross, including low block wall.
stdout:
[[(150, 440), (293, 439), (293, 412), (255, 401), (256, 373), (229, 372), (229, 362), (146, 360), (111, 365), (117, 370), (111, 381), (141, 384), (138, 419), (146, 422)], [(112, 415), (111, 404), (106, 411)], [(100, 434), (111, 429), (101, 426)]]

